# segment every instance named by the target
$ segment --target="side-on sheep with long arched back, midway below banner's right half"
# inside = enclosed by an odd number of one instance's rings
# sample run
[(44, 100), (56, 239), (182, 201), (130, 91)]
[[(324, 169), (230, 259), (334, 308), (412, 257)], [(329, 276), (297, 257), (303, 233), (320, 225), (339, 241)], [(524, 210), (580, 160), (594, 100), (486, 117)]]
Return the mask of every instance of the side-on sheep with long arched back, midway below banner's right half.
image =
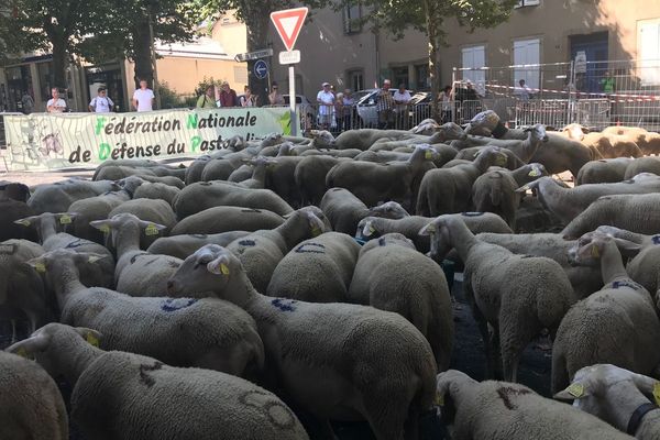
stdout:
[(174, 210), (179, 220), (217, 206), (266, 209), (279, 216), (294, 211), (294, 208), (270, 189), (241, 188), (226, 182), (188, 185), (174, 199)]

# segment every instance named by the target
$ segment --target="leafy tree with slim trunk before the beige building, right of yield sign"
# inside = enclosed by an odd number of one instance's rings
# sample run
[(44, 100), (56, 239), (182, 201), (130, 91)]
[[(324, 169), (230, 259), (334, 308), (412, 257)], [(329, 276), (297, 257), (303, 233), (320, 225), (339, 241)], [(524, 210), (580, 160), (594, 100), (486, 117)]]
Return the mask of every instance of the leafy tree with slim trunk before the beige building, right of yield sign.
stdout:
[[(494, 28), (508, 20), (517, 0), (339, 0), (336, 9), (360, 4), (371, 10), (362, 19), (372, 22), (374, 29), (385, 29), (394, 38), (404, 36), (407, 29), (415, 29), (428, 36), (429, 74), (431, 91), (440, 91), (440, 65), (438, 51), (450, 43), (443, 23), (455, 19), (470, 32), (477, 28)], [(432, 99), (432, 116), (439, 118), (438, 100)]]

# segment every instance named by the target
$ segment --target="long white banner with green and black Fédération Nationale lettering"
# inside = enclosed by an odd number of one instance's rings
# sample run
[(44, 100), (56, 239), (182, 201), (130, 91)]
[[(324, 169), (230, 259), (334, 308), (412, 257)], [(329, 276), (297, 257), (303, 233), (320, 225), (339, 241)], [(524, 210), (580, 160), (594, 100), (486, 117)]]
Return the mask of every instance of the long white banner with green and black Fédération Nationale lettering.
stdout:
[(224, 140), (288, 134), (288, 108), (6, 116), (9, 170), (94, 167), (107, 160), (190, 157)]

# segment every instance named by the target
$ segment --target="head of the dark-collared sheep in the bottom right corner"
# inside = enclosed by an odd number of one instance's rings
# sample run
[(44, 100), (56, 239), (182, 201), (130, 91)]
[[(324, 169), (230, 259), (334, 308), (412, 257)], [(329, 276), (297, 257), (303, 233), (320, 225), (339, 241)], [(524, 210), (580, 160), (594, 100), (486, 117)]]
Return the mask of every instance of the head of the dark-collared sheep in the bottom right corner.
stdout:
[(650, 403), (660, 405), (660, 382), (612, 364), (596, 364), (579, 370), (571, 385), (554, 398), (573, 400), (573, 406), (626, 431), (631, 410)]

